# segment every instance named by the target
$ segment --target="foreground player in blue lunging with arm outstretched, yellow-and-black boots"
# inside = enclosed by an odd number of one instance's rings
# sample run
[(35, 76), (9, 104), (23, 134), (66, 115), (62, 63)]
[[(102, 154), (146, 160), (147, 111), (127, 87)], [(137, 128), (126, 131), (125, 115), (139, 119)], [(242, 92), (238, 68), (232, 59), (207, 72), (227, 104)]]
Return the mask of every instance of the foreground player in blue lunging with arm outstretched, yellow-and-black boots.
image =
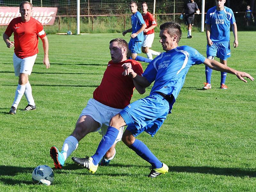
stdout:
[(171, 113), (172, 106), (191, 66), (204, 63), (214, 70), (235, 74), (244, 82), (247, 81), (243, 77), (254, 80), (252, 76), (245, 72), (236, 71), (218, 61), (204, 58), (203, 55), (192, 47), (179, 47), (181, 29), (178, 23), (167, 22), (162, 24), (159, 36), (163, 50), (166, 52), (161, 53), (152, 60), (142, 76), (136, 74), (128, 64), (123, 72), (123, 75), (131, 76), (142, 87), (148, 87), (155, 81), (150, 95), (133, 102), (111, 118), (108, 131), (93, 156), (85, 158), (72, 157), (74, 162), (87, 168), (92, 173), (97, 171), (102, 156), (114, 143), (119, 132), (118, 129), (123, 125), (128, 125), (122, 137), (123, 142), (152, 165), (152, 170), (148, 177), (154, 178), (168, 172), (168, 166), (162, 163), (136, 137), (143, 131), (149, 133), (152, 137), (156, 134), (168, 113)]

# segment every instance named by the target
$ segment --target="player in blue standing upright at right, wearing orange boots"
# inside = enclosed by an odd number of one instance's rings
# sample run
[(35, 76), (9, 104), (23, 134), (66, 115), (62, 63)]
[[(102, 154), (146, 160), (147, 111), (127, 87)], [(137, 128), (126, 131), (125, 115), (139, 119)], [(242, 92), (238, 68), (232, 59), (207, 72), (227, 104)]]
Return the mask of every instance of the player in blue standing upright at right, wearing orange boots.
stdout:
[[(230, 57), (230, 24), (235, 37), (233, 46), (238, 46), (237, 27), (234, 13), (224, 6), (226, 0), (216, 0), (216, 6), (207, 11), (206, 14), (206, 55), (208, 59), (220, 58), (220, 63), (227, 66), (227, 59)], [(206, 83), (203, 89), (211, 89), (212, 69), (205, 66)], [(221, 72), (220, 88), (227, 89), (225, 85), (227, 73)]]

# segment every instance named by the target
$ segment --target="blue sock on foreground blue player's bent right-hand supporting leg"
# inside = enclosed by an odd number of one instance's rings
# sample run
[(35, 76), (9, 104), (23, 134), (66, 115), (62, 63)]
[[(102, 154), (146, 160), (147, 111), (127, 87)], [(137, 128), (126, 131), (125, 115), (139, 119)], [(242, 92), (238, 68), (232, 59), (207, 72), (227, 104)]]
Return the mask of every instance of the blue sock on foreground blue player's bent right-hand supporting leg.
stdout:
[(134, 143), (129, 147), (142, 159), (146, 160), (153, 168), (161, 168), (163, 163), (149, 150), (149, 148), (140, 140), (135, 139)]

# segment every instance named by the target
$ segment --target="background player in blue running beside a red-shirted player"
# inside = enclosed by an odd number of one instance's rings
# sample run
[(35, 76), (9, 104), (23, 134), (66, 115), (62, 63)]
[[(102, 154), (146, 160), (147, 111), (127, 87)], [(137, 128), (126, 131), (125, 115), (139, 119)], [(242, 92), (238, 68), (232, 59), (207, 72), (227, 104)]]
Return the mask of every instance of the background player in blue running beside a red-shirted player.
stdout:
[(144, 41), (143, 30), (147, 27), (147, 25), (143, 20), (141, 13), (138, 12), (138, 5), (136, 2), (132, 1), (130, 3), (130, 10), (132, 12), (132, 28), (123, 32), (123, 36), (125, 36), (125, 34), (128, 32), (132, 32), (131, 40), (128, 44), (129, 50), (127, 53), (127, 58), (149, 63), (151, 61), (150, 59), (138, 56), (138, 53), (141, 53), (141, 46)]

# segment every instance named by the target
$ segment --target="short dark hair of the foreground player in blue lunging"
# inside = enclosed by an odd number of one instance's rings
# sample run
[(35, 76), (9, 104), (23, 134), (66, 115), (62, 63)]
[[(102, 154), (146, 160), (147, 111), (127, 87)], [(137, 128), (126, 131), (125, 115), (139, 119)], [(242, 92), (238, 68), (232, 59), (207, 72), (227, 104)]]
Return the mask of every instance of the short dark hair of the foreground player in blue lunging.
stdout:
[(173, 21), (163, 23), (162, 25), (160, 25), (160, 30), (166, 30), (167, 33), (171, 37), (177, 35), (178, 36), (177, 43), (179, 43), (181, 35), (182, 35), (182, 31), (180, 29), (180, 24), (179, 23), (176, 23), (176, 22), (173, 22)]

